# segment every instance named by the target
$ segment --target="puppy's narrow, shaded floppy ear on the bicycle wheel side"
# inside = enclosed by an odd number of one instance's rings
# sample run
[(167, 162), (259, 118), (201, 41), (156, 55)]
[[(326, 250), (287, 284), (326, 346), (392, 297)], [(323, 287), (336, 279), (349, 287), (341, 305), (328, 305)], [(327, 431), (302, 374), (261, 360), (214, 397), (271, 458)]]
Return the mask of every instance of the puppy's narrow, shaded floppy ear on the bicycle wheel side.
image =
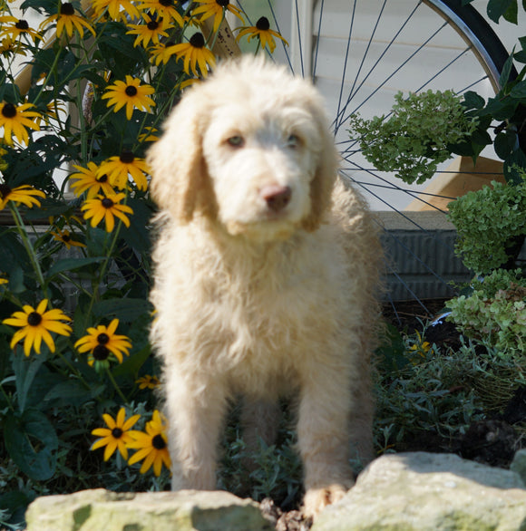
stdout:
[(312, 114), (320, 133), (321, 150), (314, 179), (310, 181), (310, 212), (303, 220), (303, 228), (307, 232), (317, 230), (331, 206), (340, 159), (334, 136), (326, 123), (325, 112), (317, 105)]

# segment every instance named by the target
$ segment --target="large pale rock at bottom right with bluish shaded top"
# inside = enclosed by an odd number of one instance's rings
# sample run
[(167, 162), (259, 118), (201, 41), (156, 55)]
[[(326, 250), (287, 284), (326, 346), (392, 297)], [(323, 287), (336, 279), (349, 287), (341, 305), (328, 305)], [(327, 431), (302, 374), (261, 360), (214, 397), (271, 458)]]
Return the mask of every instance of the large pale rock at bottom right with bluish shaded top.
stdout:
[(452, 454), (415, 452), (376, 459), (311, 531), (518, 531), (526, 489), (510, 470)]

